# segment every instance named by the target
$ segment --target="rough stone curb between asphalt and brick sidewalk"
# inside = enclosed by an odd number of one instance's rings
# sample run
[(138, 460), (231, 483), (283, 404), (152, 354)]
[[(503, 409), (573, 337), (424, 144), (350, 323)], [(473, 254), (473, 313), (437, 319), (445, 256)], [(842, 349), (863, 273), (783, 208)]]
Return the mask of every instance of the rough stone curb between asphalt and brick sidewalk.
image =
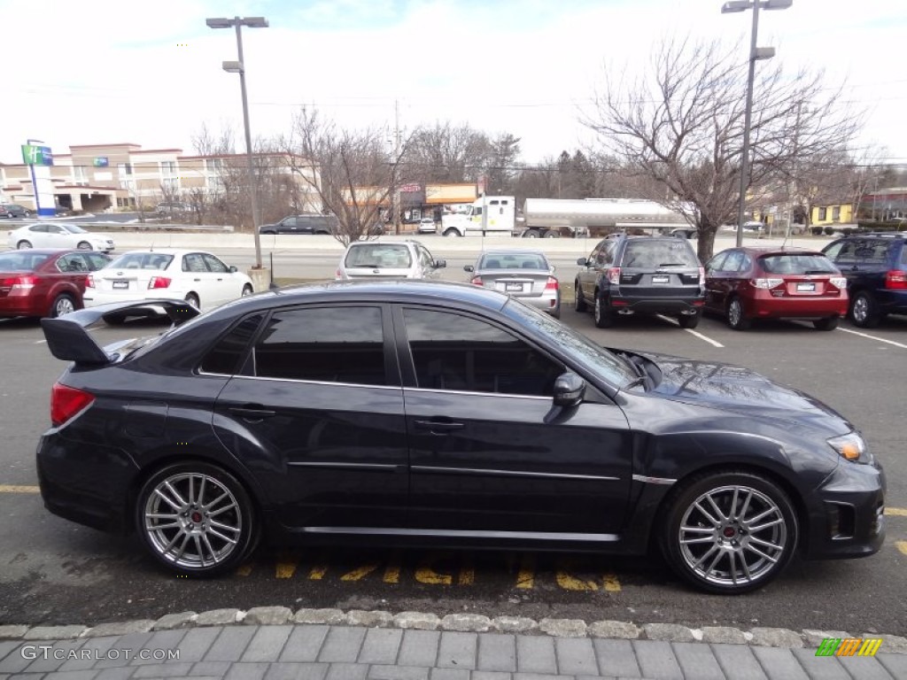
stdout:
[(0, 626), (0, 640), (58, 640), (83, 637), (125, 635), (137, 631), (172, 630), (175, 628), (229, 625), (284, 625), (317, 624), (325, 626), (381, 627), (413, 630), (441, 630), (457, 632), (521, 633), (551, 637), (591, 637), (596, 639), (658, 640), (662, 642), (692, 642), (703, 644), (730, 644), (787, 649), (815, 648), (825, 637), (882, 638), (884, 651), (889, 654), (907, 654), (907, 637), (878, 633), (851, 635), (845, 631), (756, 627), (741, 630), (735, 627), (690, 628), (678, 624), (653, 623), (637, 626), (624, 621), (595, 621), (586, 623), (573, 618), (543, 618), (534, 621), (524, 617), (484, 617), (473, 614), (451, 614), (438, 617), (424, 612), (364, 611), (351, 609), (299, 609), (293, 613), (288, 607), (254, 607), (240, 609), (214, 609), (201, 612), (168, 614), (152, 621), (139, 619), (122, 623), (102, 623), (94, 627), (75, 626), (26, 626), (10, 624)]

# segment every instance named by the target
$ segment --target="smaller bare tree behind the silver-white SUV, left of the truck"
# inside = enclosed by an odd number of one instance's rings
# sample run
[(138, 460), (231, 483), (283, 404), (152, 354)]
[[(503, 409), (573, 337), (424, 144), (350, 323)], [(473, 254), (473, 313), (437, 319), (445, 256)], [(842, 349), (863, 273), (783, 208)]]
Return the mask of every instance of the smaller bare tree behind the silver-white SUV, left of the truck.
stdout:
[(317, 194), (324, 211), (336, 216), (334, 238), (344, 246), (375, 234), (405, 182), (401, 161), (408, 143), (394, 155), (386, 151), (388, 137), (383, 128), (343, 130), (304, 108), (291, 136), (279, 141), (292, 170)]

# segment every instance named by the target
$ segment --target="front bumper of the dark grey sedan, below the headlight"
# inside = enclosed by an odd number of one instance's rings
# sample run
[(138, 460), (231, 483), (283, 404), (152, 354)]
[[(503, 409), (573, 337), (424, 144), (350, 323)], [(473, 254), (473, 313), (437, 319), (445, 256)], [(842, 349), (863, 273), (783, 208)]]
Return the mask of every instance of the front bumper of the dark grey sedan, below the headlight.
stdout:
[(805, 557), (862, 558), (878, 552), (885, 539), (884, 508), (882, 466), (841, 461), (814, 492)]

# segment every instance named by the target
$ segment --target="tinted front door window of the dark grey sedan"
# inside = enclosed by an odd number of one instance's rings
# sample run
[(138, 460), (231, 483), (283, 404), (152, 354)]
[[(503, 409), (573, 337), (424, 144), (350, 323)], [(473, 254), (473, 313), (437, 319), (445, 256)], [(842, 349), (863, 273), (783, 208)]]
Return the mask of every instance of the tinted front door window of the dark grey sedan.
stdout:
[(550, 396), (563, 368), (520, 338), (478, 319), (405, 309), (419, 387)]

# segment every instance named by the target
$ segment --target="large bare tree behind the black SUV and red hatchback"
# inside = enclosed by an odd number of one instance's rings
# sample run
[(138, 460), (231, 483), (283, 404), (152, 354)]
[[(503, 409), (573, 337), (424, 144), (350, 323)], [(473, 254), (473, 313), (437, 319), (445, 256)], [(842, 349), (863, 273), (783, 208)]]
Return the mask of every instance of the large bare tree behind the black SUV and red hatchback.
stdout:
[[(697, 225), (705, 260), (717, 228), (736, 221), (746, 63), (736, 46), (668, 39), (656, 48), (649, 73), (629, 80), (623, 73), (605, 73), (582, 122), (599, 133), (602, 151), (653, 180), (642, 198)], [(845, 147), (862, 124), (861, 115), (827, 91), (822, 73), (787, 78), (780, 64), (761, 66), (755, 92), (749, 194), (756, 202), (785, 167)]]

